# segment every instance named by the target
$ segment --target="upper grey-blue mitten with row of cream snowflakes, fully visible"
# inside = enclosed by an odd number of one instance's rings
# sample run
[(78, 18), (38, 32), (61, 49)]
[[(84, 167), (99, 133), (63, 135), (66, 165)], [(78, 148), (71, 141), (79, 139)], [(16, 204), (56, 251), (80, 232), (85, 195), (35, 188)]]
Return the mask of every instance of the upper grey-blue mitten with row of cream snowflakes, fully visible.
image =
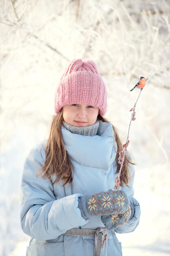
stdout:
[(82, 195), (78, 198), (78, 207), (84, 219), (89, 215), (109, 215), (111, 213), (125, 213), (130, 201), (122, 190), (108, 190), (93, 195)]

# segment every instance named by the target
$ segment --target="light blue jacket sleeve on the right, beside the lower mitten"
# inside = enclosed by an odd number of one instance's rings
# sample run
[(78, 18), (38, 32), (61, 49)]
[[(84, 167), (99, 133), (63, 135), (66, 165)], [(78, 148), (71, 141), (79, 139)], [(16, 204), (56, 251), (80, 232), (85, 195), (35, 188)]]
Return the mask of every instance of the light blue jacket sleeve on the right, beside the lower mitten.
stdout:
[[(124, 185), (121, 188), (121, 190), (124, 190), (127, 195), (130, 195), (133, 197), (133, 195), (134, 195), (133, 182), (134, 182), (134, 176), (135, 176), (134, 165), (130, 164), (129, 172), (130, 172), (130, 182), (128, 183), (128, 186)], [(115, 232), (120, 233), (120, 234), (121, 233), (130, 233), (130, 232), (133, 232), (139, 225), (141, 209), (140, 209), (139, 202), (135, 199), (134, 199), (134, 202), (135, 202), (134, 216), (132, 217), (132, 219), (128, 220), (128, 222), (124, 223), (124, 225), (117, 227), (115, 229)]]

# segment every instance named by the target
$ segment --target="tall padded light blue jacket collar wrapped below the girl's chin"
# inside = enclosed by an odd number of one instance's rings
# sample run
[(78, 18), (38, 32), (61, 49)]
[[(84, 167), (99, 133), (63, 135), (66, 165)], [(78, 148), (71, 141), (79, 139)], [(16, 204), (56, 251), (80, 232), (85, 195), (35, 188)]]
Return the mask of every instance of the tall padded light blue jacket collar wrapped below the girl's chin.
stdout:
[(99, 121), (97, 135), (73, 134), (62, 125), (62, 136), (66, 150), (74, 162), (88, 167), (108, 169), (116, 157), (117, 146), (113, 145), (113, 127)]

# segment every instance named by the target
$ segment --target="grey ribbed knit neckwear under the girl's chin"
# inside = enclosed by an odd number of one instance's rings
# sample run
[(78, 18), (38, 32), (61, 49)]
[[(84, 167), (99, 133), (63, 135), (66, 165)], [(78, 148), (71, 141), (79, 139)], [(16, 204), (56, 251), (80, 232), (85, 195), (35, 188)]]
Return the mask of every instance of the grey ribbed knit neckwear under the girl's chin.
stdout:
[(99, 121), (97, 121), (95, 124), (92, 124), (91, 126), (84, 126), (84, 127), (71, 126), (70, 124), (67, 124), (65, 121), (63, 121), (62, 124), (70, 132), (79, 134), (79, 135), (85, 135), (85, 136), (97, 135), (97, 131), (99, 128)]

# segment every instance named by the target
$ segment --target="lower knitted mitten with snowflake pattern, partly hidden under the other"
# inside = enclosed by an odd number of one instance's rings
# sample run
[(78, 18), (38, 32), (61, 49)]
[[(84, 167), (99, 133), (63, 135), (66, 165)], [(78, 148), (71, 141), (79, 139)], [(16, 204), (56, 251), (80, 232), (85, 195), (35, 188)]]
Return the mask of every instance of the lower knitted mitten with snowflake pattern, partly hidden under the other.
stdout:
[(116, 229), (120, 225), (124, 225), (124, 223), (126, 223), (128, 220), (130, 220), (130, 217), (131, 217), (131, 209), (130, 209), (130, 206), (128, 206), (128, 209), (127, 209), (127, 211), (125, 211), (125, 213), (123, 213), (123, 214), (114, 213), (114, 214), (110, 214), (108, 216), (103, 215), (103, 216), (101, 216), (101, 220), (102, 220), (104, 226), (108, 230), (113, 230), (113, 229)]

